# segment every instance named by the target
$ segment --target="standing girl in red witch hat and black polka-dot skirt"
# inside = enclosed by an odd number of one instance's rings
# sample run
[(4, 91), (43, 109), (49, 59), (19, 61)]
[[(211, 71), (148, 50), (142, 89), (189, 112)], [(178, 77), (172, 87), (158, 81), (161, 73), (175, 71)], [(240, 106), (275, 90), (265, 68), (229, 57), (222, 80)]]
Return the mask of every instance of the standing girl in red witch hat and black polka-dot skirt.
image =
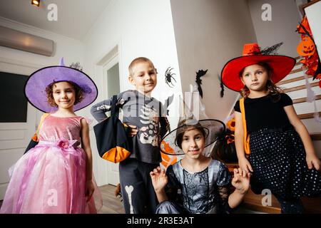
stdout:
[[(234, 107), (238, 163), (253, 172), (253, 192), (268, 189), (282, 213), (302, 213), (300, 197), (321, 195), (320, 160), (291, 98), (275, 86), (290, 73), (295, 59), (270, 55), (275, 46), (266, 50), (260, 51), (257, 43), (245, 44), (243, 56), (228, 61), (222, 71), (224, 85), (243, 96)], [(250, 135), (250, 152), (245, 150), (244, 129)]]

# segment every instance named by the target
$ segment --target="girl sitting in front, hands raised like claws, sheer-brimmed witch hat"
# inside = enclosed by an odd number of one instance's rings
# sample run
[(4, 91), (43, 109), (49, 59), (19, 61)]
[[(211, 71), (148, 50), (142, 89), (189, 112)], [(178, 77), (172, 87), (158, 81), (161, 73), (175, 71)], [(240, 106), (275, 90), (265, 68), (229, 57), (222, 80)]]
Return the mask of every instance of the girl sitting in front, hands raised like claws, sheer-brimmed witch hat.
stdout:
[(180, 120), (178, 128), (163, 138), (161, 145), (166, 146), (161, 147), (162, 152), (185, 157), (170, 165), (166, 172), (157, 167), (150, 173), (160, 202), (157, 214), (229, 213), (242, 202), (250, 186), (250, 173), (234, 170), (235, 191), (230, 194), (228, 168), (204, 154), (204, 148), (224, 130), (225, 125), (219, 120), (198, 121), (190, 116)]

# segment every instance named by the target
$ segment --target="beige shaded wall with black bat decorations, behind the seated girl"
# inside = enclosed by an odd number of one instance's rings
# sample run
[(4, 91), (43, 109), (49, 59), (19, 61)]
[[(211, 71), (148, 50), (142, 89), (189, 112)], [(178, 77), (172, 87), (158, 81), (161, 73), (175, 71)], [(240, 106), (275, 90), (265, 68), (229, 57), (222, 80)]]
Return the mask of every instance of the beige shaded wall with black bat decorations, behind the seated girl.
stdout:
[(218, 76), (231, 58), (242, 54), (244, 43), (256, 42), (246, 1), (171, 0), (176, 46), (183, 91), (202, 78), (203, 100), (210, 118), (225, 120), (238, 93), (225, 88), (220, 98)]

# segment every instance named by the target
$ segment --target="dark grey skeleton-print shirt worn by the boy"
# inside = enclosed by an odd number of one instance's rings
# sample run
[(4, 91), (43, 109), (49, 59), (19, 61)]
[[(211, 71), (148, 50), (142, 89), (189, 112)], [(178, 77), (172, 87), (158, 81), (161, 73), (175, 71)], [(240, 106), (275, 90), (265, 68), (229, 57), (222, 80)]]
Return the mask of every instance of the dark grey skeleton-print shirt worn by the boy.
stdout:
[[(103, 100), (91, 108), (91, 114), (98, 121), (107, 118), (106, 112), (111, 110), (111, 100)], [(123, 123), (135, 125), (137, 135), (128, 137), (131, 146), (131, 158), (141, 162), (158, 164), (161, 153), (158, 142), (169, 130), (169, 123), (163, 105), (155, 98), (148, 98), (138, 90), (126, 90), (117, 95), (118, 105), (123, 110)]]

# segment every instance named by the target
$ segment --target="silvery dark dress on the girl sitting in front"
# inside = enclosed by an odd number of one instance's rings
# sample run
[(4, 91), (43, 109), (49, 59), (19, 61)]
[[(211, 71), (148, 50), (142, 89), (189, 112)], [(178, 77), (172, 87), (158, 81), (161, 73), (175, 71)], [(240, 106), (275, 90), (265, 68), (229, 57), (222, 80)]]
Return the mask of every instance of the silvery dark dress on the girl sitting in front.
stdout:
[(168, 184), (165, 191), (169, 200), (175, 201), (191, 214), (230, 213), (230, 172), (218, 160), (200, 172), (184, 170), (180, 161), (166, 170)]

